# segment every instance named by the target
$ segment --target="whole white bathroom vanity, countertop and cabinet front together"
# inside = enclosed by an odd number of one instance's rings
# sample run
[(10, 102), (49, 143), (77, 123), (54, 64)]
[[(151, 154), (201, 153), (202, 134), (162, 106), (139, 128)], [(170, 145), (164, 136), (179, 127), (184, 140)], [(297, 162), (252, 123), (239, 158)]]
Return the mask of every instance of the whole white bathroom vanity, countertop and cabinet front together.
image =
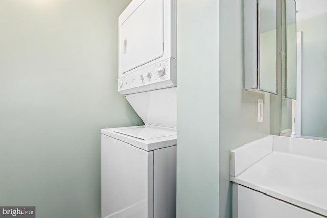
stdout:
[(327, 141), (269, 135), (230, 152), (233, 217), (327, 217)]

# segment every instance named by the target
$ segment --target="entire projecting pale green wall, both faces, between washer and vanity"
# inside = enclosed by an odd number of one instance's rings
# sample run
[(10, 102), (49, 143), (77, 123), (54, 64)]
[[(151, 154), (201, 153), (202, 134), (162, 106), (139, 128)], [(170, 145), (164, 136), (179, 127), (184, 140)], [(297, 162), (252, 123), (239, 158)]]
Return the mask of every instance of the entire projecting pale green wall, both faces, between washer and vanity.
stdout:
[(274, 98), (244, 90), (243, 1), (178, 0), (177, 23), (177, 217), (231, 218), (229, 151), (270, 134)]

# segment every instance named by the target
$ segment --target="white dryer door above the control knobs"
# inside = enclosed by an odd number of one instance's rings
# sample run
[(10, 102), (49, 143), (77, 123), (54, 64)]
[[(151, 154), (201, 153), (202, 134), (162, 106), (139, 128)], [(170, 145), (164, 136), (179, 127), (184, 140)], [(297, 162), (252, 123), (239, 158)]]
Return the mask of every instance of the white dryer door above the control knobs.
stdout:
[(164, 0), (139, 2), (138, 7), (120, 22), (121, 74), (164, 54)]

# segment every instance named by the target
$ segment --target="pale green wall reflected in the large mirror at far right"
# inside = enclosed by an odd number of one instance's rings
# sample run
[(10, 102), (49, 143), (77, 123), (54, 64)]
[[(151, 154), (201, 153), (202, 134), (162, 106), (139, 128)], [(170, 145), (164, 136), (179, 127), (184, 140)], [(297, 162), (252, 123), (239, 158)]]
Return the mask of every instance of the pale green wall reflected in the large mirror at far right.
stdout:
[(327, 137), (327, 13), (297, 22), (302, 32), (302, 135)]

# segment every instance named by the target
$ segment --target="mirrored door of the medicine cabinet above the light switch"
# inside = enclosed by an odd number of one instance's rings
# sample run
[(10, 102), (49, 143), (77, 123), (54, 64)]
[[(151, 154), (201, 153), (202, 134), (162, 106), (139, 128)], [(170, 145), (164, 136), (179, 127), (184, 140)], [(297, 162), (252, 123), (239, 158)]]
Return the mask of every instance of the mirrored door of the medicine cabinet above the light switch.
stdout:
[(260, 0), (259, 90), (277, 94), (277, 1)]

